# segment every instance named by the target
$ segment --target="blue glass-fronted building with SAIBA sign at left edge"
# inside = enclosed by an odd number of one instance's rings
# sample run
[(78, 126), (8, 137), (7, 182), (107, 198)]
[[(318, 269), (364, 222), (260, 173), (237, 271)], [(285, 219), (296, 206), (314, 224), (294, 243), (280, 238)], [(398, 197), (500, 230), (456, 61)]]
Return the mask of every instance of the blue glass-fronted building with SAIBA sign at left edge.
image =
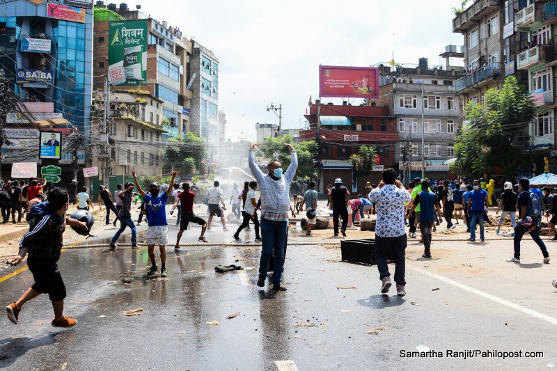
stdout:
[[(79, 131), (81, 141), (89, 139), (91, 129), (92, 40), (92, 3), (69, 8), (47, 1), (0, 2), (0, 68), (10, 90), (16, 99), (29, 102), (33, 117), (59, 118)], [(8, 136), (11, 148), (3, 148), (6, 173), (12, 162), (41, 162), (36, 126), (10, 117), (8, 132), (16, 134)], [(77, 155), (66, 152), (64, 142), (57, 164), (63, 168), (61, 184), (69, 184), (77, 173)], [(83, 174), (78, 175), (81, 180)]]

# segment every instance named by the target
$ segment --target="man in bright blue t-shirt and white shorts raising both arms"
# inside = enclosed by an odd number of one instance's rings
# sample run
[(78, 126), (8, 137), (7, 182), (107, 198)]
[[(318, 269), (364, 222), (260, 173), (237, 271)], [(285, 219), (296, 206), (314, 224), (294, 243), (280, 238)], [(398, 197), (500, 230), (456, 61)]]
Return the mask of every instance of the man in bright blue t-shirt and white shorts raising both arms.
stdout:
[(177, 174), (178, 173), (175, 171), (171, 172), (172, 180), (166, 192), (159, 194), (159, 183), (151, 182), (149, 185), (149, 194), (146, 194), (137, 181), (135, 171), (132, 171), (137, 192), (143, 197), (147, 208), (148, 227), (145, 231), (145, 235), (143, 235), (143, 239), (145, 239), (147, 244), (149, 259), (152, 263), (152, 267), (147, 272), (147, 276), (155, 274), (158, 270), (157, 263), (155, 262), (155, 244), (159, 245), (159, 251), (161, 253), (161, 277), (166, 277), (167, 274), (165, 245), (168, 235), (168, 223), (166, 222), (166, 200), (168, 200), (168, 196), (172, 194), (174, 178)]

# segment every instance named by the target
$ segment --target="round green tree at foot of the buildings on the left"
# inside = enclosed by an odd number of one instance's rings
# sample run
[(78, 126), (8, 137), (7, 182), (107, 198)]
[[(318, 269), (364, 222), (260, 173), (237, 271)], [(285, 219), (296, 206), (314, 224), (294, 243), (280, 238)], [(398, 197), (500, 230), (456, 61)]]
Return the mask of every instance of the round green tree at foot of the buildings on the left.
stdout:
[(207, 154), (207, 145), (194, 133), (173, 136), (164, 148), (165, 171), (178, 171), (185, 177), (194, 171), (203, 171), (202, 161)]

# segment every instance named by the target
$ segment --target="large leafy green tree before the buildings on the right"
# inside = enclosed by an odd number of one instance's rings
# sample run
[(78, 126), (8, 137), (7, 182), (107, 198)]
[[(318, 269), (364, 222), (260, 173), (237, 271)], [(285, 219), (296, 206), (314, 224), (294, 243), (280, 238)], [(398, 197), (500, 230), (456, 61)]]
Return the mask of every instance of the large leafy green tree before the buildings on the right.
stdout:
[(469, 125), (455, 142), (455, 170), (464, 175), (483, 176), (497, 170), (515, 177), (521, 168), (531, 169), (540, 152), (531, 152), (528, 126), (535, 105), (528, 90), (514, 76), (507, 77), (501, 90), (489, 89), (483, 104), (469, 102), (464, 112)]

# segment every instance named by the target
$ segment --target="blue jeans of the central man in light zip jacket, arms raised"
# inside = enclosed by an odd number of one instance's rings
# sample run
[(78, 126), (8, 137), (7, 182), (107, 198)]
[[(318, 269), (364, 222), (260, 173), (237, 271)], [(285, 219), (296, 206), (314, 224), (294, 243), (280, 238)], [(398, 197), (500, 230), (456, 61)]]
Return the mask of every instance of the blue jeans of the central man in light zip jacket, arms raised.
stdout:
[(288, 232), (288, 221), (274, 221), (261, 218), (262, 251), (259, 262), (259, 279), (265, 280), (269, 269), (269, 258), (274, 251), (274, 271), (272, 283), (280, 285), (283, 276), (284, 244)]

